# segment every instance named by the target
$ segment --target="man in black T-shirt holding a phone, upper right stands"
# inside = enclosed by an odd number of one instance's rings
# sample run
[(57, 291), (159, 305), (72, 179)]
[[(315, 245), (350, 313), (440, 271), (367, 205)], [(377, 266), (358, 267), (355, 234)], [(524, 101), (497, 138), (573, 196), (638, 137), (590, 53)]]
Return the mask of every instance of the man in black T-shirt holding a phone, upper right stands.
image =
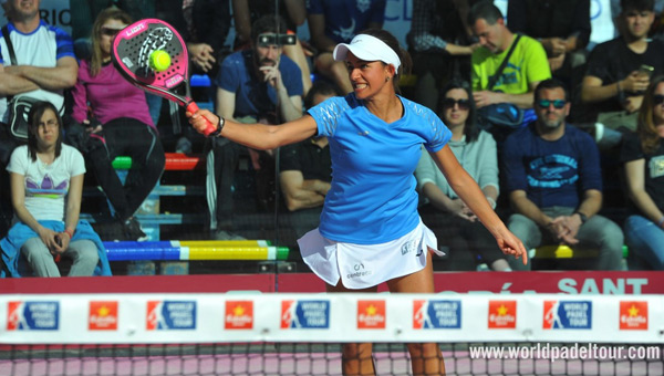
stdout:
[(601, 148), (618, 145), (621, 134), (615, 129), (636, 129), (650, 77), (664, 73), (664, 42), (647, 38), (653, 0), (621, 0), (621, 6), (622, 33), (592, 50), (581, 86), (581, 101), (591, 111), (587, 119), (599, 123), (594, 135)]

